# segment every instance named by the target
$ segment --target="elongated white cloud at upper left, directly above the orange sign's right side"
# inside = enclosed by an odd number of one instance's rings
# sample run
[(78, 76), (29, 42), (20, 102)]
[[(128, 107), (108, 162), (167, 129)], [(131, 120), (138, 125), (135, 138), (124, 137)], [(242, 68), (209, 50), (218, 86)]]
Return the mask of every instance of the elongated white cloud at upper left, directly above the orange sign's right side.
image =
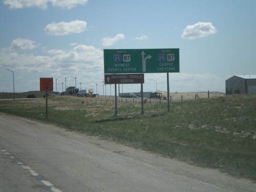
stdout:
[(48, 24), (45, 28), (47, 35), (63, 36), (74, 33), (81, 33), (87, 29), (87, 22), (83, 20), (73, 20), (72, 22), (60, 22)]

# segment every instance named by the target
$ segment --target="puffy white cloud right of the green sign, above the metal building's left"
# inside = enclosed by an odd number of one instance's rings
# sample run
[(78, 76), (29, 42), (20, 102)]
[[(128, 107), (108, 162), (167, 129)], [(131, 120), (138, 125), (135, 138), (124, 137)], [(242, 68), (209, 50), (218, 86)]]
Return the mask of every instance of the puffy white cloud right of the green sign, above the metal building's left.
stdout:
[(199, 37), (207, 37), (216, 32), (216, 28), (211, 23), (199, 22), (194, 25), (188, 25), (184, 29), (181, 37), (183, 39), (196, 39)]

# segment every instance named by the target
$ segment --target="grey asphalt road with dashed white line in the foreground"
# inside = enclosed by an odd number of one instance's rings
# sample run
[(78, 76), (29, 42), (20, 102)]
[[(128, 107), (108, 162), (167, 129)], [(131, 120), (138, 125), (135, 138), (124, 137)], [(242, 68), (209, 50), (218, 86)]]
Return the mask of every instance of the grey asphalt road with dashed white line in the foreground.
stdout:
[[(86, 125), (84, 125), (86, 126)], [(230, 177), (0, 113), (0, 191), (255, 191)]]

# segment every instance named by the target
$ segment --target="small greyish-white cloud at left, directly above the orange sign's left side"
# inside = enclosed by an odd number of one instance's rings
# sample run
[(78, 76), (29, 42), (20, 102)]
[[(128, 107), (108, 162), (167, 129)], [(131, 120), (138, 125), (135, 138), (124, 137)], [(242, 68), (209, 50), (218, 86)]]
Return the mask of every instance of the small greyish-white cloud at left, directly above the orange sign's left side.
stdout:
[(25, 51), (34, 49), (38, 46), (39, 45), (35, 45), (35, 41), (30, 39), (16, 38), (12, 41), (11, 49), (16, 51)]

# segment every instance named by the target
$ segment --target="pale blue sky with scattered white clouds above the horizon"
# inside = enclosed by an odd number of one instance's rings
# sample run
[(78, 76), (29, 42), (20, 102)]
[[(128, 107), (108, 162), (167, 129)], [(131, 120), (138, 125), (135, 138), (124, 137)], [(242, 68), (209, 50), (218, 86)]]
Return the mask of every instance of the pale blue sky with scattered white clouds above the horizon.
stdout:
[[(39, 91), (39, 79), (52, 77), (57, 92), (76, 83), (113, 95), (104, 49), (179, 49), (170, 92), (225, 92), (233, 75), (256, 75), (255, 10), (255, 0), (3, 0), (0, 92), (13, 92), (14, 74), (15, 92)], [(167, 91), (166, 76), (145, 73), (143, 91)]]

